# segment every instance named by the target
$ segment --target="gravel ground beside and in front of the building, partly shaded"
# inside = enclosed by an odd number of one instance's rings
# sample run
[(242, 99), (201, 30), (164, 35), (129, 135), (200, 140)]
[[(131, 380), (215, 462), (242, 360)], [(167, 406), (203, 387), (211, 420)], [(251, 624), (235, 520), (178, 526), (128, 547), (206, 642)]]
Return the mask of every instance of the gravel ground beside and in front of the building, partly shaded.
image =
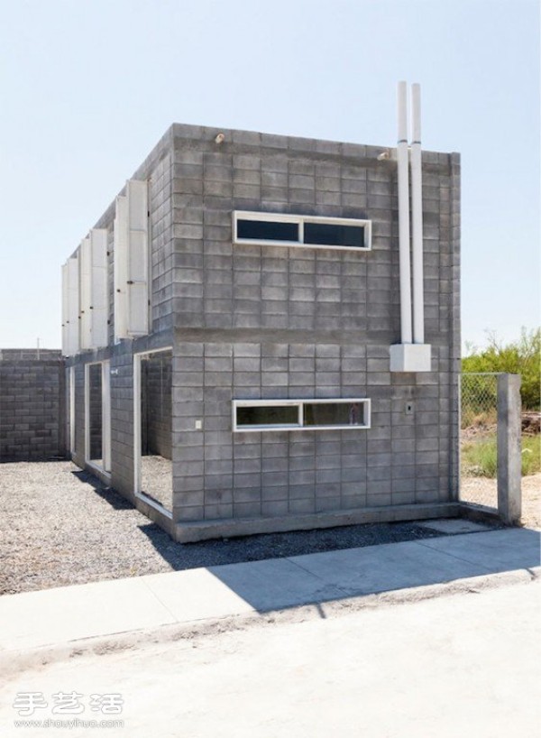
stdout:
[(181, 545), (69, 461), (0, 465), (0, 594), (441, 535), (352, 525)]

